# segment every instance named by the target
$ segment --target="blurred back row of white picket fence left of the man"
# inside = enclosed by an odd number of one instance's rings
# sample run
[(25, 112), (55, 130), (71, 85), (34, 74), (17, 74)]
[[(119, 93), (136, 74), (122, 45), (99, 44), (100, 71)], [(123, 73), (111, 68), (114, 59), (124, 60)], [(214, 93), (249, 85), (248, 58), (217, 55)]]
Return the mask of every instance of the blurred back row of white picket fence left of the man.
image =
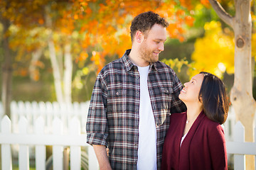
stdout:
[[(68, 132), (68, 123), (73, 116), (80, 120), (81, 132), (85, 133), (85, 125), (87, 120), (87, 112), (90, 101), (82, 103), (61, 104), (57, 102), (11, 102), (11, 122), (13, 132), (18, 132), (18, 120), (24, 116), (28, 120), (28, 132), (33, 132), (33, 123), (42, 116), (46, 122), (46, 133), (53, 130), (53, 118), (58, 117), (63, 123), (63, 132)], [(4, 115), (0, 102), (0, 118)]]

